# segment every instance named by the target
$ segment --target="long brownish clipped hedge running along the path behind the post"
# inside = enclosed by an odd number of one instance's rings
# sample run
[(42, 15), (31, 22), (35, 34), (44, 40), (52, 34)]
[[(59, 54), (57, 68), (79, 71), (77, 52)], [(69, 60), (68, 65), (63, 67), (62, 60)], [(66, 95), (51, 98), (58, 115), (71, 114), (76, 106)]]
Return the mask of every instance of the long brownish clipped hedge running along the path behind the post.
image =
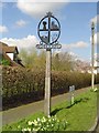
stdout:
[[(88, 73), (52, 71), (52, 95), (67, 92), (69, 85), (75, 85), (76, 89), (89, 86), (90, 80)], [(19, 101), (41, 100), (44, 98), (45, 71), (3, 66), (2, 85), (3, 106)]]

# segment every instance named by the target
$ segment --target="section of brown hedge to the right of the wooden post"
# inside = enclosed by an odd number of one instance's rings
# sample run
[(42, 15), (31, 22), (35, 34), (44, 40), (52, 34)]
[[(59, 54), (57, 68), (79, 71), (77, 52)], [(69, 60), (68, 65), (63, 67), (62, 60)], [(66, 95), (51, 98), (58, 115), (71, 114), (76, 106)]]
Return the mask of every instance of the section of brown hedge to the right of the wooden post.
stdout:
[(52, 94), (68, 92), (70, 85), (75, 85), (77, 90), (89, 86), (90, 83), (88, 73), (52, 72)]

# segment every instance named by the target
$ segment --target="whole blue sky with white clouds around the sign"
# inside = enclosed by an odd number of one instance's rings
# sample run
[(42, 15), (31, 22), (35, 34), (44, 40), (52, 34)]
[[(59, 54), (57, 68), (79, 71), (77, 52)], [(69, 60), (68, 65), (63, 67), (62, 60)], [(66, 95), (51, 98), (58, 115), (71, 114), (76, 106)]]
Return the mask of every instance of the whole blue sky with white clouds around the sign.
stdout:
[[(29, 1), (0, 3), (0, 14), (2, 14), (0, 17), (0, 41), (16, 45), (19, 51), (36, 49), (35, 45), (41, 41), (37, 35), (38, 22), (46, 16), (46, 12), (52, 11), (61, 23), (58, 41), (63, 47), (56, 51), (68, 51), (82, 60), (90, 60), (91, 21), (98, 23), (97, 2)], [(98, 32), (96, 27), (95, 42), (97, 42)]]

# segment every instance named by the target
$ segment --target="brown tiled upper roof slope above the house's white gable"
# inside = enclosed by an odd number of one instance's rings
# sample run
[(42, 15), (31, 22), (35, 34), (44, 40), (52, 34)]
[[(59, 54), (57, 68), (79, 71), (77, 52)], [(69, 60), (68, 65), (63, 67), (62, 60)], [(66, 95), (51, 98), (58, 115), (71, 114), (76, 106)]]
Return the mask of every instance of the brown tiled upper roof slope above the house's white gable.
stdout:
[(9, 47), (3, 42), (0, 42), (0, 50), (4, 51), (6, 53), (14, 53), (16, 52), (19, 54), (16, 47)]

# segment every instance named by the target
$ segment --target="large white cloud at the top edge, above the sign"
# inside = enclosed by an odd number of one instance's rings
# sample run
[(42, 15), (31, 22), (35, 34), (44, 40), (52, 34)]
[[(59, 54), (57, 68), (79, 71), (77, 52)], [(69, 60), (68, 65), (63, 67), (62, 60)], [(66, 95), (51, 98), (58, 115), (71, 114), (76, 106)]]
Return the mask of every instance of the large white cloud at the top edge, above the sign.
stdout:
[(43, 0), (43, 2), (41, 2), (41, 0), (18, 0), (18, 8), (31, 16), (31, 17), (42, 17), (44, 16), (46, 12), (52, 11), (52, 12), (56, 12), (57, 10), (59, 10), (63, 6), (65, 6), (67, 2), (66, 0), (56, 0), (55, 1), (47, 1)]

